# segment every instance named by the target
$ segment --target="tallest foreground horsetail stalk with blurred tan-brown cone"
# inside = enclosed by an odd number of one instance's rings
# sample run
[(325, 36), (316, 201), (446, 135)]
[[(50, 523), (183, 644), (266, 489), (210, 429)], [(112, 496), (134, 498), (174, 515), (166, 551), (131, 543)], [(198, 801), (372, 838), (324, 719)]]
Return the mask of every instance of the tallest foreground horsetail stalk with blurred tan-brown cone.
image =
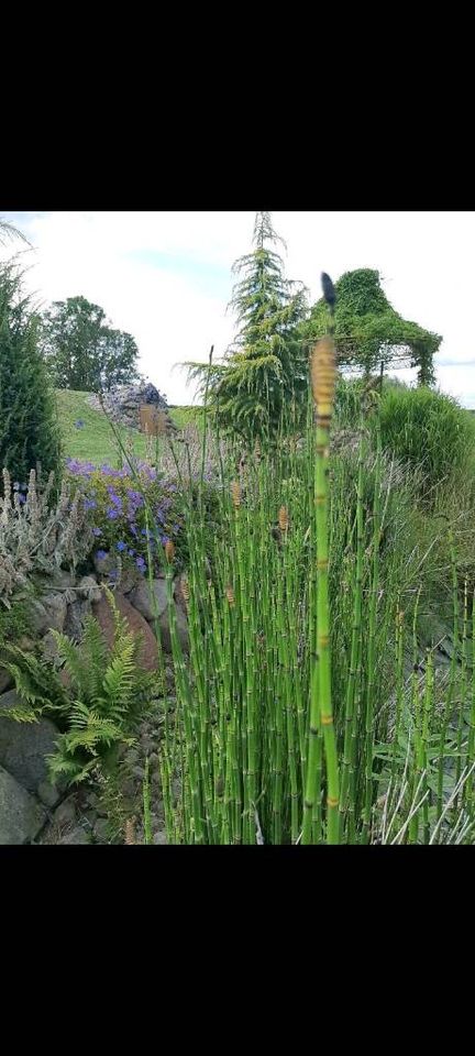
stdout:
[[(330, 616), (328, 596), (328, 473), (330, 422), (335, 385), (335, 348), (332, 337), (323, 338), (313, 350), (311, 385), (317, 408), (317, 458), (314, 507), (317, 526), (317, 628), (318, 678), (313, 679), (310, 706), (307, 788), (303, 807), (302, 843), (310, 843), (311, 817), (320, 789), (316, 787), (319, 726), (327, 762), (327, 840), (339, 843), (339, 768), (331, 700)], [(317, 694), (318, 685), (318, 694)]]

